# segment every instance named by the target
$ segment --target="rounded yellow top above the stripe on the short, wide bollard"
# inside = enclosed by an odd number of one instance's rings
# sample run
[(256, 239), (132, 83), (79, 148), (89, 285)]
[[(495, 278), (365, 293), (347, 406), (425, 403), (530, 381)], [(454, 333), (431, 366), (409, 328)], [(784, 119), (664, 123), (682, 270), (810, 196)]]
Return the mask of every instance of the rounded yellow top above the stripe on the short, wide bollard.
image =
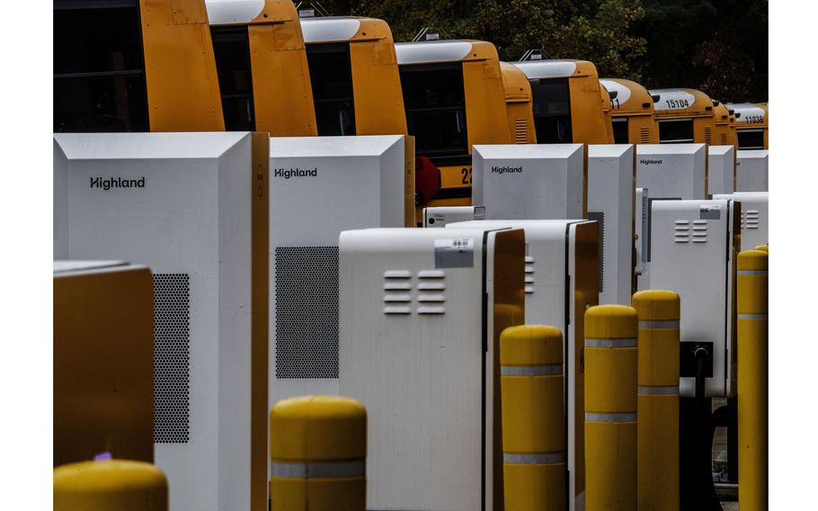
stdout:
[(341, 396), (282, 399), (270, 412), (272, 461), (320, 462), (366, 457), (367, 410)]

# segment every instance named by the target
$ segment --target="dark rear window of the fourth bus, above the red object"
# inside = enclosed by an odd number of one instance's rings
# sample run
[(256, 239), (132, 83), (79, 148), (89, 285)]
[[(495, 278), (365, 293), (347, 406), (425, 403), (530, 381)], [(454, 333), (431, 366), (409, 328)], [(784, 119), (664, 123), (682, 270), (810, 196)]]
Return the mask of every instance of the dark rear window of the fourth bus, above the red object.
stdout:
[(402, 66), (400, 76), (417, 154), (438, 166), (469, 163), (462, 64)]

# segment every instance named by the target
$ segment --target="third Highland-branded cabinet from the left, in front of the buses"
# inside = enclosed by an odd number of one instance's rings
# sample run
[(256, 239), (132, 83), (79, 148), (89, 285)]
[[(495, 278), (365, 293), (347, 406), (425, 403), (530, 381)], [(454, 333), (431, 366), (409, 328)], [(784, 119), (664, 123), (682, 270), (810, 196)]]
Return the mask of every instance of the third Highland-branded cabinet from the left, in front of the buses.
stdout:
[(476, 145), (472, 203), (487, 220), (585, 217), (582, 144)]

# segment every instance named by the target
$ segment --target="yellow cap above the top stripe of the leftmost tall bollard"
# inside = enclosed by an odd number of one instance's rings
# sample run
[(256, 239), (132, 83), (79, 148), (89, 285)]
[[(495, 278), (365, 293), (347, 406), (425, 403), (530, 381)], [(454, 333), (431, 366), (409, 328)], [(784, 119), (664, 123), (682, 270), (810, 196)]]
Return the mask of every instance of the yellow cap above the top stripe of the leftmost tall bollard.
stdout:
[(500, 334), (502, 365), (541, 365), (563, 362), (563, 334), (549, 325), (508, 327)]

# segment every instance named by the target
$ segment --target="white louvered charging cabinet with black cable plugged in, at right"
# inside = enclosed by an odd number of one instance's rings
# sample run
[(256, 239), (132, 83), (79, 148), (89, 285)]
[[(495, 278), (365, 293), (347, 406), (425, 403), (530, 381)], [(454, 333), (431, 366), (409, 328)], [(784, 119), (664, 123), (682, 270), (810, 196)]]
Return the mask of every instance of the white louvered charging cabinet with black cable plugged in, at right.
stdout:
[(696, 349), (709, 359), (705, 397), (735, 394), (735, 261), (742, 204), (730, 200), (651, 203), (650, 285), (681, 297), (680, 396), (693, 397)]

